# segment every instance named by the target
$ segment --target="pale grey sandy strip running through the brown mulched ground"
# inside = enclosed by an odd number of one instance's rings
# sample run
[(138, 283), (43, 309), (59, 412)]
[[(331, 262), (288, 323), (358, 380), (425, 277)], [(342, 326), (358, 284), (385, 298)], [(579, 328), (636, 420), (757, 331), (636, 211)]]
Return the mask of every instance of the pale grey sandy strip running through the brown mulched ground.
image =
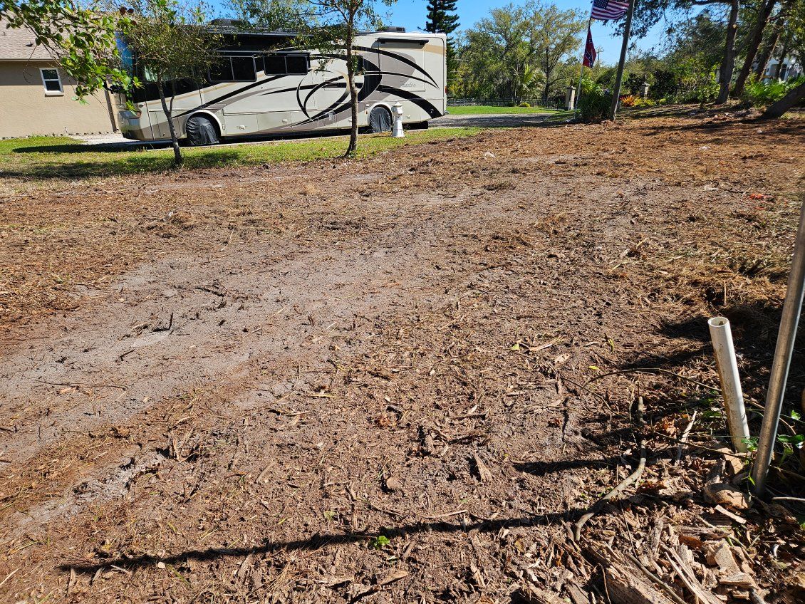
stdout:
[[(283, 246), (261, 241), (122, 275), (108, 300), (29, 326), (8, 347), (0, 424), (14, 432), (0, 458), (24, 465), (70, 434), (126, 424), (160, 399), (236, 379), (254, 359), (320, 366), (334, 345), (353, 353), (379, 317), (438, 297), (474, 266), (460, 254), (443, 266), (451, 240), (470, 236), (469, 222), (494, 230), (511, 226), (507, 211), (520, 214), (516, 221), (530, 218), (517, 209), (518, 196), (485, 217), (484, 193), (375, 201), (408, 206), (379, 224), (312, 217), (333, 230), (324, 249), (303, 238)], [(293, 387), (276, 385), (272, 396)]]

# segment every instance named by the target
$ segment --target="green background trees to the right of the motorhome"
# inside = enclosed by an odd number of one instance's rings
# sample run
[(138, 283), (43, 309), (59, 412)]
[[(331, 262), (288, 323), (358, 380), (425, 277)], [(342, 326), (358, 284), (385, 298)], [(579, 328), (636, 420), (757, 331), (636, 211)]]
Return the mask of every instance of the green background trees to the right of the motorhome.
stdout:
[[(588, 12), (560, 10), (537, 0), (489, 11), (458, 36), (456, 97), (541, 97), (560, 101), (579, 77)], [(799, 85), (778, 84), (786, 60), (805, 60), (805, 0), (641, 0), (633, 40), (663, 21), (661, 48), (635, 50), (626, 64), (625, 94), (645, 82), (650, 101), (774, 101)], [(614, 23), (618, 33), (622, 23)], [(615, 57), (613, 57), (614, 59)], [(766, 77), (770, 60), (774, 71)], [(786, 64), (786, 67), (790, 65)], [(791, 73), (790, 71), (788, 72)], [(614, 69), (599, 64), (584, 89), (613, 85)], [(771, 80), (771, 83), (763, 80)]]

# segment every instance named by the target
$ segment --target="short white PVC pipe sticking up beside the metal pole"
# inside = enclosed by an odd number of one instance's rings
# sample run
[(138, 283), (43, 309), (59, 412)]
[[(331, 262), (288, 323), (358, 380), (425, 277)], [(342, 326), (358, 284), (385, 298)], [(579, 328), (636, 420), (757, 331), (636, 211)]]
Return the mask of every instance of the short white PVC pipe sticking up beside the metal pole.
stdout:
[(746, 453), (749, 448), (744, 439), (749, 438), (749, 424), (746, 423), (744, 393), (741, 391), (741, 378), (738, 376), (733, 333), (729, 329), (729, 320), (724, 316), (713, 317), (707, 324), (710, 328), (712, 347), (716, 351), (716, 366), (727, 411), (729, 434), (733, 438), (735, 450), (738, 453)]

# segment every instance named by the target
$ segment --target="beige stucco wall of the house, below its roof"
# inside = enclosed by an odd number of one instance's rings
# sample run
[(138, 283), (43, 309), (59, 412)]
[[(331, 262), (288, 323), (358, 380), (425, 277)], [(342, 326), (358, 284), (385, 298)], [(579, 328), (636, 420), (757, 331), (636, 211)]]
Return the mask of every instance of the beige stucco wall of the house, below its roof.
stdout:
[(0, 59), (0, 139), (113, 131), (102, 91), (86, 105), (74, 101), (75, 83), (61, 70), (64, 92), (45, 90), (39, 68), (54, 67), (52, 61)]

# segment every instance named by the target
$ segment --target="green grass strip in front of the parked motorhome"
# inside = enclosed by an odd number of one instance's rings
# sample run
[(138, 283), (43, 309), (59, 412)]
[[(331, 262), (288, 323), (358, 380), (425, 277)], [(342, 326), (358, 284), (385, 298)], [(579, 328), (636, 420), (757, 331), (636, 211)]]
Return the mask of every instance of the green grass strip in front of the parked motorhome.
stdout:
[[(369, 157), (399, 147), (473, 136), (481, 128), (436, 128), (410, 130), (404, 139), (390, 134), (358, 138), (357, 157)], [(286, 161), (332, 159), (344, 154), (349, 137), (268, 141), (225, 147), (184, 148), (184, 169), (248, 166)], [(0, 178), (27, 180), (84, 179), (141, 172), (164, 172), (173, 168), (171, 149), (121, 150), (81, 144), (64, 136), (38, 136), (0, 141)]]

